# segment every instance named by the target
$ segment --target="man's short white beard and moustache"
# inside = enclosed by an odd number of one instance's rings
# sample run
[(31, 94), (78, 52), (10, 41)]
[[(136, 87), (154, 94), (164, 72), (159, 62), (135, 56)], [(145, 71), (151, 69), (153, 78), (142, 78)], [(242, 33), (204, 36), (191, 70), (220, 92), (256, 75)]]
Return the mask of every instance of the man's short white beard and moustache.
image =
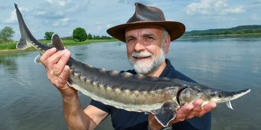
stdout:
[[(156, 71), (158, 67), (165, 61), (165, 53), (163, 47), (160, 49), (160, 55), (158, 57), (153, 57), (153, 55), (148, 51), (133, 52), (132, 57), (128, 57), (128, 61), (137, 74), (147, 75)], [(150, 60), (134, 60), (133, 57), (148, 57)]]

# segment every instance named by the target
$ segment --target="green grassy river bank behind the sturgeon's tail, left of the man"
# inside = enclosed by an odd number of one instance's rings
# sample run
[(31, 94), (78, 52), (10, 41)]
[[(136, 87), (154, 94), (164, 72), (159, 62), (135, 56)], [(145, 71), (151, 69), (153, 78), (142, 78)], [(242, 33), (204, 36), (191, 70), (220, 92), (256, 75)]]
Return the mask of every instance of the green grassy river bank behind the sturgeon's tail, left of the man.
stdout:
[[(86, 40), (79, 42), (77, 40), (63, 40), (64, 46), (77, 46), (77, 45), (86, 45), (95, 42), (111, 42), (111, 41), (119, 41), (117, 39), (110, 39), (110, 40)], [(28, 51), (36, 51), (34, 48), (27, 48), (25, 50), (18, 50), (16, 49), (16, 44), (18, 41), (8, 41), (0, 43), (0, 55), (7, 55), (13, 53), (21, 53), (21, 52), (28, 52)], [(47, 43), (51, 43), (51, 40), (39, 40), (39, 42), (47, 45)]]

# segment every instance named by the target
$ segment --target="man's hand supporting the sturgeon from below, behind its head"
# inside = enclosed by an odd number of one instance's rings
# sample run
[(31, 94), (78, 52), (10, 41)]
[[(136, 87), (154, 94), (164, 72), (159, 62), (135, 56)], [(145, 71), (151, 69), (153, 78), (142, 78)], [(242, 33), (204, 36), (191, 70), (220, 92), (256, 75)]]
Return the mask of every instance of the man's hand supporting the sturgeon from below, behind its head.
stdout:
[[(203, 101), (197, 99), (192, 104), (184, 105), (177, 111), (176, 117), (169, 123), (169, 126), (172, 123), (177, 123), (185, 119), (190, 119), (194, 116), (201, 117), (217, 106), (217, 104), (215, 103), (208, 103), (205, 106), (201, 107), (202, 104)], [(157, 119), (155, 118), (155, 115), (153, 115), (152, 113), (149, 113), (148, 123), (149, 128), (152, 130), (160, 130), (163, 128), (163, 126), (160, 123), (158, 123)]]

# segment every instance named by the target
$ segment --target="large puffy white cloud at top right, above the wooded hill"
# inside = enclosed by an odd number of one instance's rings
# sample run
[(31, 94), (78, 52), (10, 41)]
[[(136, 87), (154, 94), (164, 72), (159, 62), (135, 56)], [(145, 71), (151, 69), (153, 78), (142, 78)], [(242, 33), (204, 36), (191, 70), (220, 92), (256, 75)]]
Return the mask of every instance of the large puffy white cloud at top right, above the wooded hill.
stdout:
[(183, 12), (189, 15), (227, 15), (242, 13), (244, 6), (228, 7), (226, 0), (201, 0), (187, 5)]

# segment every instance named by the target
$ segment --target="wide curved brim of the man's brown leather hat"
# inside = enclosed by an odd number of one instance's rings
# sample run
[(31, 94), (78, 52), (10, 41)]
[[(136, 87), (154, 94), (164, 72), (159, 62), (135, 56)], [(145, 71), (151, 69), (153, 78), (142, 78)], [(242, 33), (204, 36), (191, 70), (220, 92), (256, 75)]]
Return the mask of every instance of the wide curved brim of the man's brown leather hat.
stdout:
[(185, 32), (185, 25), (181, 22), (175, 21), (142, 21), (142, 22), (131, 22), (111, 27), (107, 30), (107, 33), (114, 38), (125, 42), (125, 28), (134, 25), (142, 24), (157, 24), (163, 26), (170, 35), (170, 41), (176, 40), (181, 37)]

